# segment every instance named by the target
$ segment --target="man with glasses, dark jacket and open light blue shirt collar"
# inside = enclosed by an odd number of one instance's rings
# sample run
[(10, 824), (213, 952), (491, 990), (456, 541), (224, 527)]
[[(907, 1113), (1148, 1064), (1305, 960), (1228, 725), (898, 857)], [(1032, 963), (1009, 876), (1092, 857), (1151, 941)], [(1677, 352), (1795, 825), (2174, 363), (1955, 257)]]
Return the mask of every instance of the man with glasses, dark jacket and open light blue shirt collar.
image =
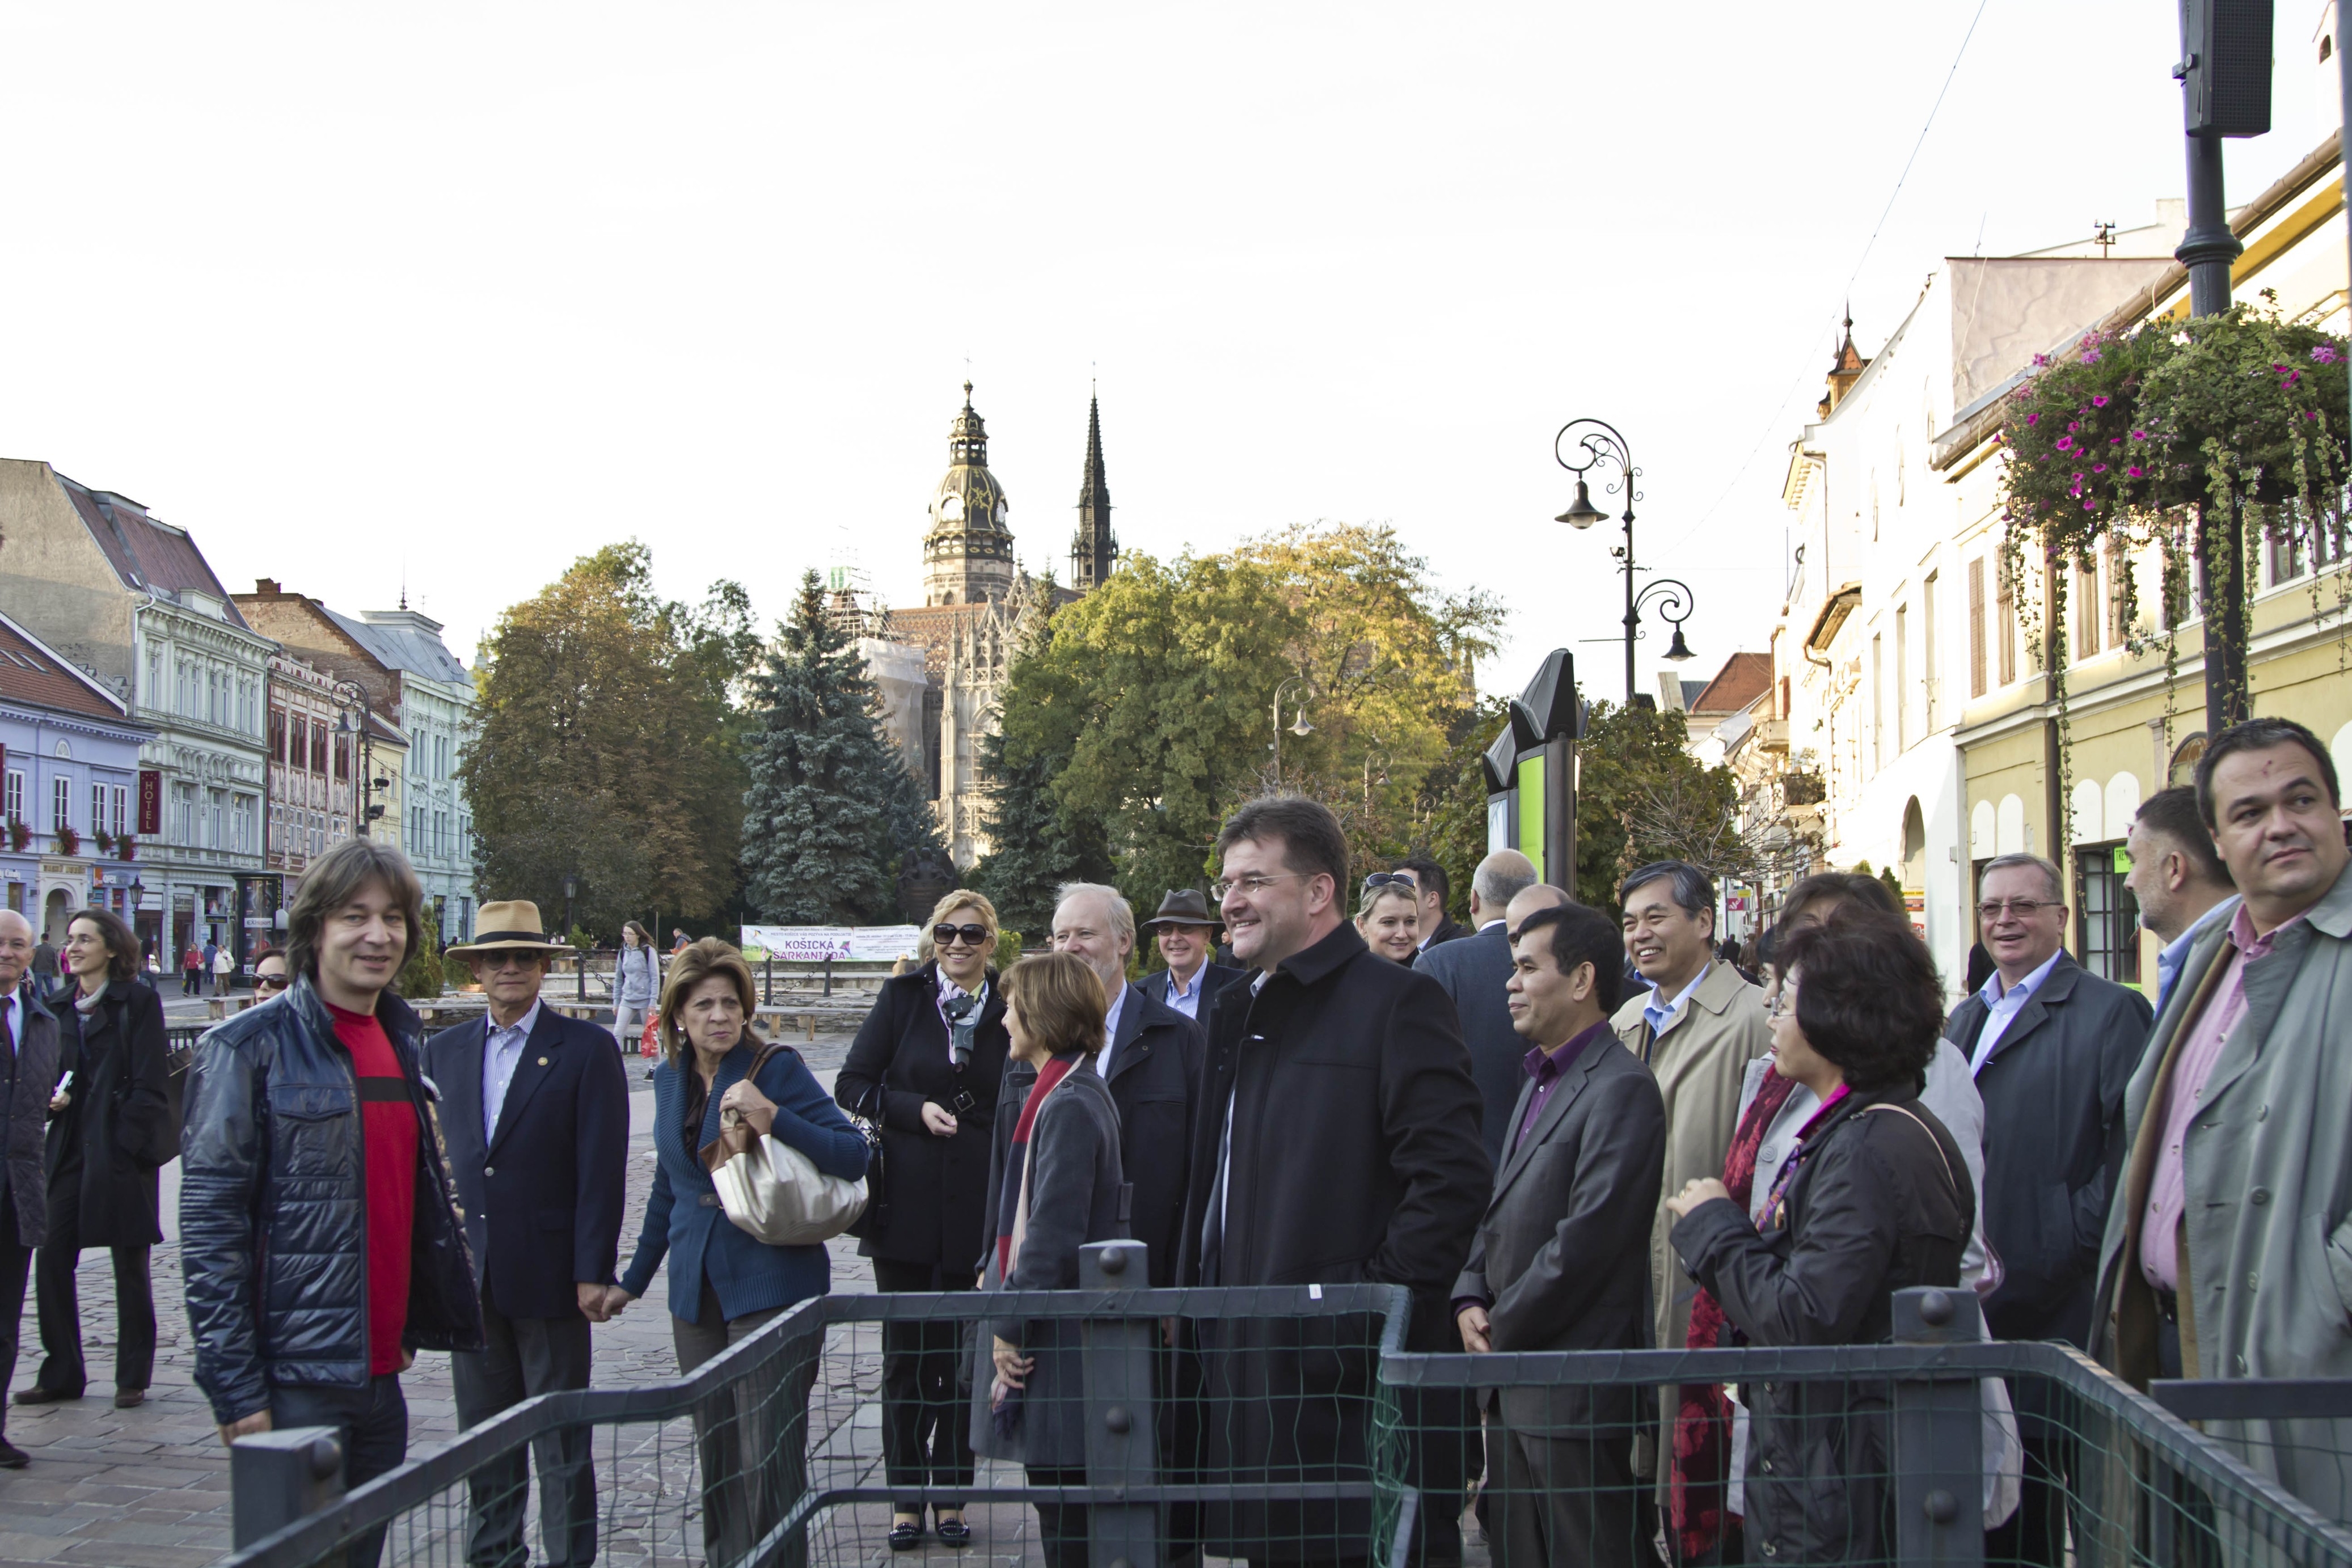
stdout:
[[(2065, 891), (2039, 856), (1997, 856), (1978, 879), (1994, 973), (1945, 1020), (1985, 1105), (1985, 1295), (1999, 1340), (2091, 1342), (2098, 1239), (2124, 1166), (2124, 1088), (2147, 1046), (2147, 1001), (2065, 952)], [(2025, 1483), (1987, 1556), (2060, 1568), (2072, 1439), (2039, 1378), (2018, 1382)]]

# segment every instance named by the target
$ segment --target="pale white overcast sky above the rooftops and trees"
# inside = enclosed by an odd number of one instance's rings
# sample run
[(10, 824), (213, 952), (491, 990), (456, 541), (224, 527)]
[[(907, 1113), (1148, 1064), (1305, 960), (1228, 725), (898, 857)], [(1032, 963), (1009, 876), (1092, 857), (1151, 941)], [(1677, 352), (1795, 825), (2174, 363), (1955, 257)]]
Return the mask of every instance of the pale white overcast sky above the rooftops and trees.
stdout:
[[(1780, 595), (1780, 477), (1849, 277), (1875, 353), (1945, 254), (2183, 190), (2171, 5), (0, 2), (0, 456), (47, 458), (473, 658), (574, 555), (783, 614), (920, 602), (962, 395), (1068, 574), (1098, 376), (1127, 550), (1378, 520), (1613, 637), (1552, 433), (1613, 421), (1712, 672)], [(2279, 0), (2274, 132), (2319, 139)], [(1863, 261), (1870, 244), (1867, 261)], [(1644, 644), (1644, 689), (1651, 689)], [(1578, 646), (1590, 693), (1613, 646)]]

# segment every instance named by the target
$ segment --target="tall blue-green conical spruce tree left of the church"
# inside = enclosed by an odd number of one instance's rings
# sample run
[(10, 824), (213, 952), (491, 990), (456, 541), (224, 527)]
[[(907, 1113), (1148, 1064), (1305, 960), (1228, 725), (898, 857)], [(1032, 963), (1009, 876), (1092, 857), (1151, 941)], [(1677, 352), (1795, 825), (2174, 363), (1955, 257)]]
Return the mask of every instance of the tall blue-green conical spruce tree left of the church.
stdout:
[(887, 919), (891, 766), (875, 731), (875, 686), (849, 637), (826, 618), (816, 574), (750, 679), (750, 788), (743, 792), (743, 891), (762, 922), (856, 926)]

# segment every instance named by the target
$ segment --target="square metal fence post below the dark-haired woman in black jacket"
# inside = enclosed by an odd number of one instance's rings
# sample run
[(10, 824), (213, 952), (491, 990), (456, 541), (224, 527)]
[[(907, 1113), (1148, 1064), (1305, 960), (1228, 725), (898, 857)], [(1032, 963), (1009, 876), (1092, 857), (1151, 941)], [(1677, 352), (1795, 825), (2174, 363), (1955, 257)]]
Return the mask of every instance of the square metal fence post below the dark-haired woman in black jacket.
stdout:
[[(1976, 1345), (1983, 1321), (1976, 1291), (1896, 1291), (1896, 1345)], [(1985, 1410), (1976, 1385), (1976, 1373), (1896, 1378), (1896, 1561), (1985, 1561)]]

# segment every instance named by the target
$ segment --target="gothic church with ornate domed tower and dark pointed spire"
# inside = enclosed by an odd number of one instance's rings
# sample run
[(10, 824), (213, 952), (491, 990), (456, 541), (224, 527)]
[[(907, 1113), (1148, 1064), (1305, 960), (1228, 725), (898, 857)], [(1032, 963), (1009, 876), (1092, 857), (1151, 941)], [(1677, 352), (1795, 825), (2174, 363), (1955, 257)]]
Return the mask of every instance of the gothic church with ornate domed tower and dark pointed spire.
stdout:
[[(922, 607), (858, 616), (858, 649), (882, 691), (884, 729), (927, 780), (941, 837), (957, 870), (988, 853), (981, 738), (997, 731), (997, 696), (1042, 595), (1068, 604), (1117, 569), (1110, 482), (1103, 477), (1101, 404), (1087, 404), (1087, 465), (1077, 487), (1077, 534), (1068, 585), (1049, 585), (1014, 562), (1011, 503), (988, 473), (988, 428), (964, 407), (948, 428), (948, 473), (931, 491), (922, 536)], [(837, 595), (835, 604), (858, 614)]]

